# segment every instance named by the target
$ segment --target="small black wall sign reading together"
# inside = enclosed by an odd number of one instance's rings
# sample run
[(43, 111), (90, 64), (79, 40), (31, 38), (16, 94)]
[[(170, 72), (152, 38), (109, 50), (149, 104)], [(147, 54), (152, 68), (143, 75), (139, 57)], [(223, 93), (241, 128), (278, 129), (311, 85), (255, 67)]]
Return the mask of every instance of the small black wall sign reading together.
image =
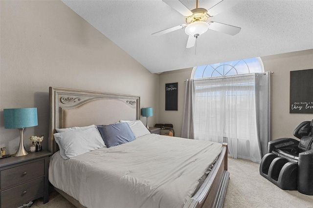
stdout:
[(178, 83), (165, 84), (165, 110), (178, 110)]

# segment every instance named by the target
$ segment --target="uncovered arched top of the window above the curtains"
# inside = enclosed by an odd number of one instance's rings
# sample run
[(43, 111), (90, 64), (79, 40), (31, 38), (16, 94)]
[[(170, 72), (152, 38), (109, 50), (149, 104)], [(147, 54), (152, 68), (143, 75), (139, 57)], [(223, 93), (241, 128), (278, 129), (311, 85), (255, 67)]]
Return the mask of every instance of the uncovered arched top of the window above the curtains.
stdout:
[(261, 58), (241, 59), (231, 62), (213, 63), (196, 66), (191, 75), (192, 79), (202, 79), (210, 77), (224, 77), (238, 74), (261, 73), (264, 66)]

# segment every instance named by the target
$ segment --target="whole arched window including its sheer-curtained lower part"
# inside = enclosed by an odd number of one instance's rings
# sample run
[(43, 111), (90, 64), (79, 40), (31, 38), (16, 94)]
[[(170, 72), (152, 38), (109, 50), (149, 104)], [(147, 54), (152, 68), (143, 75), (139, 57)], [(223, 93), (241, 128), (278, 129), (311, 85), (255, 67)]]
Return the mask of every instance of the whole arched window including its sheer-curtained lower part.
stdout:
[(232, 157), (259, 163), (261, 140), (268, 141), (258, 134), (268, 135), (268, 120), (262, 127), (257, 123), (263, 115), (269, 118), (268, 75), (260, 58), (194, 67), (187, 81), (193, 88), (187, 102), (193, 102), (194, 139), (227, 142)]

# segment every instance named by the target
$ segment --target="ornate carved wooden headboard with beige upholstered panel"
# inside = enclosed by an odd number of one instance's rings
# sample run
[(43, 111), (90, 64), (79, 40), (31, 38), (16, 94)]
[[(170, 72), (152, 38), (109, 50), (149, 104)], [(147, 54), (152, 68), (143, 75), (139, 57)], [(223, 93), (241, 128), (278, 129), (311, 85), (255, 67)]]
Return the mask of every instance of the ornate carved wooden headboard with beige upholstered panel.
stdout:
[(48, 149), (53, 153), (58, 150), (53, 137), (56, 128), (106, 125), (140, 118), (139, 96), (49, 87), (49, 99)]

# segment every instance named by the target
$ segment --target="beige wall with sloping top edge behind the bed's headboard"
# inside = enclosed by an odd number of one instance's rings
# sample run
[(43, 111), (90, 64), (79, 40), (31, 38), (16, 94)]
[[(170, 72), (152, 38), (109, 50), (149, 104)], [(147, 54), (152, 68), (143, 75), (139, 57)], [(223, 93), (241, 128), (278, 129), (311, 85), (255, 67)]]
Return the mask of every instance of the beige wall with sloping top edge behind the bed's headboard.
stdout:
[[(48, 87), (65, 87), (140, 96), (158, 121), (159, 76), (84, 21), (61, 1), (0, 1), (0, 146), (13, 154), (18, 129), (4, 129), (3, 109), (37, 107), (38, 126), (24, 133), (45, 135), (49, 125)], [(142, 118), (146, 122), (146, 118)], [(28, 149), (28, 147), (26, 147)]]

